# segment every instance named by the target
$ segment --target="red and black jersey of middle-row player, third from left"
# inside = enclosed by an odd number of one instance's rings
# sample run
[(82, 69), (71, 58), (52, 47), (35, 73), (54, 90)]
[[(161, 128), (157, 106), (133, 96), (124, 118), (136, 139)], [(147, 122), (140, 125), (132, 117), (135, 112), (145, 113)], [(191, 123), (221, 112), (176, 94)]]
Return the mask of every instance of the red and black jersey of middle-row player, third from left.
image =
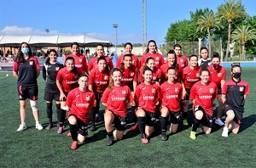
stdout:
[(131, 64), (129, 69), (120, 68), (120, 70), (122, 70), (123, 73), (122, 84), (129, 87), (133, 85), (133, 81), (138, 81), (137, 68), (133, 64)]

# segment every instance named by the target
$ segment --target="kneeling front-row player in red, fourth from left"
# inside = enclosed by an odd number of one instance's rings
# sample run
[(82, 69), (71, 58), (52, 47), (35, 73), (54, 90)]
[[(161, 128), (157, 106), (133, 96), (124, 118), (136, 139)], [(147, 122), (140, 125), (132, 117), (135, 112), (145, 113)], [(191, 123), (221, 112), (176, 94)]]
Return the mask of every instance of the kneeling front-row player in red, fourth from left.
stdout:
[(181, 106), (179, 102), (183, 96), (183, 87), (176, 81), (176, 70), (170, 67), (167, 70), (168, 81), (160, 86), (160, 100), (161, 100), (161, 139), (166, 141), (166, 121), (168, 116), (171, 117), (170, 132), (176, 133), (179, 120), (182, 118)]

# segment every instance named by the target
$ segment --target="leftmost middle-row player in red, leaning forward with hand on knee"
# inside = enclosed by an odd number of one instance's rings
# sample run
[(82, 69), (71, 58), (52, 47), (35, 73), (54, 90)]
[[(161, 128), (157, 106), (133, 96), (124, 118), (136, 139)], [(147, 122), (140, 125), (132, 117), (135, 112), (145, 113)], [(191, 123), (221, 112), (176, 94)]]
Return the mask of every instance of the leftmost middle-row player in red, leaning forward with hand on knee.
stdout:
[(73, 57), (67, 57), (65, 61), (66, 67), (62, 68), (56, 77), (56, 85), (60, 91), (61, 111), (59, 116), (59, 130), (58, 134), (61, 134), (64, 129), (64, 121), (66, 117), (66, 99), (67, 93), (72, 89), (79, 87), (79, 76), (83, 73), (75, 67), (75, 60)]

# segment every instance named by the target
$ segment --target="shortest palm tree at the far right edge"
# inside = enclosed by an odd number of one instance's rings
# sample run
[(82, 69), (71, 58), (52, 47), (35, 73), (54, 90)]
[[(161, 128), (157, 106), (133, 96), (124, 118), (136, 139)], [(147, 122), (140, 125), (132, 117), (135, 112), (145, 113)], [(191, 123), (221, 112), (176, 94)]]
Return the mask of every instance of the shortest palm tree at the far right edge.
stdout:
[(250, 25), (240, 25), (233, 31), (231, 39), (232, 42), (237, 41), (241, 43), (241, 59), (244, 60), (246, 53), (245, 44), (247, 41), (253, 42), (256, 39), (256, 30)]

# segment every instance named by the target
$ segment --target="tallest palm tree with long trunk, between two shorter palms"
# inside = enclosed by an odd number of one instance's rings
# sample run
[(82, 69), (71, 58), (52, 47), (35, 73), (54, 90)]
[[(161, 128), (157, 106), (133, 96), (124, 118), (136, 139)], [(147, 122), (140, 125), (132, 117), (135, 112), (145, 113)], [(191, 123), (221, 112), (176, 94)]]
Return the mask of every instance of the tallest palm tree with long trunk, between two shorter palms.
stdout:
[(229, 34), (228, 34), (228, 42), (227, 42), (227, 50), (225, 61), (228, 60), (229, 52), (230, 52), (230, 34), (231, 34), (231, 22), (236, 18), (242, 18), (247, 16), (245, 9), (241, 5), (241, 1), (236, 2), (236, 0), (229, 0), (229, 2), (225, 2), (218, 7), (218, 16), (220, 20), (227, 20), (229, 24)]

